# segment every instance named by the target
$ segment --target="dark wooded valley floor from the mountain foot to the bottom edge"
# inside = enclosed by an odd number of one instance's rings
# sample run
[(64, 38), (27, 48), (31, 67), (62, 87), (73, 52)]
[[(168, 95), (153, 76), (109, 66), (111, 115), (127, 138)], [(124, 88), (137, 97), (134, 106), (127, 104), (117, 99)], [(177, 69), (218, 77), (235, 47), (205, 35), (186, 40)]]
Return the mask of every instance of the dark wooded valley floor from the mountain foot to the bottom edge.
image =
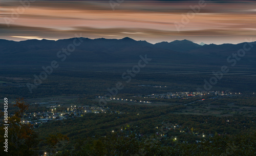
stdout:
[[(152, 104), (107, 100), (105, 113), (70, 115), (40, 126), (24, 124), (24, 112), (46, 112), (60, 104), (98, 106), (98, 96), (109, 93), (131, 64), (111, 72), (56, 70), (30, 93), (31, 70), (5, 70), (0, 76), (1, 99), (10, 99), (9, 155), (255, 155), (255, 79), (225, 75), (211, 91), (241, 93), (233, 96), (147, 98)], [(197, 92), (209, 74), (160, 72), (163, 64), (150, 66), (131, 82), (123, 83), (116, 98), (144, 100), (149, 94)], [(26, 67), (24, 67), (26, 69)], [(111, 65), (105, 65), (111, 70)], [(177, 66), (182, 71), (181, 66)], [(177, 69), (175, 69), (177, 70)], [(201, 69), (202, 71), (211, 69)], [(146, 71), (146, 72), (145, 72)], [(172, 71), (168, 69), (166, 71)], [(17, 76), (18, 75), (18, 76)], [(152, 87), (166, 86), (166, 87)], [(24, 98), (21, 100), (20, 98)], [(205, 99), (202, 101), (202, 99)], [(53, 102), (51, 101), (58, 101)], [(42, 104), (40, 104), (42, 103)], [(4, 110), (3, 108), (1, 108)], [(3, 113), (3, 111), (2, 111)], [(15, 115), (15, 116), (14, 116)], [(1, 115), (1, 120), (4, 115)], [(4, 133), (1, 123), (1, 133)], [(4, 135), (0, 136), (4, 142)], [(1, 147), (4, 150), (4, 147)], [(1, 152), (1, 154), (5, 154)]]

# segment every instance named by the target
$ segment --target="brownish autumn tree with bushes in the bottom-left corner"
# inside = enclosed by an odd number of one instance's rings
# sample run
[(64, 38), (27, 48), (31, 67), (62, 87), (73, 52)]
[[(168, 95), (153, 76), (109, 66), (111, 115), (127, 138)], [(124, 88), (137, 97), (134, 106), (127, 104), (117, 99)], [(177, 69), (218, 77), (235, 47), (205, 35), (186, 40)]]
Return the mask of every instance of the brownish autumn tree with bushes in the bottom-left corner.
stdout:
[[(24, 99), (17, 99), (14, 104), (18, 108), (17, 112), (13, 116), (9, 115), (8, 118), (8, 138), (4, 138), (5, 125), (1, 123), (0, 127), (0, 140), (4, 143), (8, 139), (8, 152), (3, 153), (4, 155), (38, 155), (45, 151), (56, 152), (57, 147), (61, 147), (64, 141), (68, 140), (67, 136), (58, 134), (56, 136), (50, 135), (46, 140), (39, 140), (38, 134), (35, 131), (35, 127), (31, 123), (24, 121), (24, 116), (29, 109)], [(0, 117), (3, 117), (3, 112)], [(45, 144), (43, 147), (38, 147), (39, 143)], [(4, 151), (4, 146), (1, 146), (1, 151)]]

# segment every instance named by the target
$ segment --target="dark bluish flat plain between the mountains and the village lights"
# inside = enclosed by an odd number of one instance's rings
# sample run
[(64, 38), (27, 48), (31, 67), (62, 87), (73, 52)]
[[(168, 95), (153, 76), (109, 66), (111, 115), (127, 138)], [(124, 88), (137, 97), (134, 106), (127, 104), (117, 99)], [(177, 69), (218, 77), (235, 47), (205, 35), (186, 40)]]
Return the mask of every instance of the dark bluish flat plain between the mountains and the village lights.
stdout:
[[(191, 62), (162, 62), (149, 63), (141, 69), (138, 74), (127, 79), (122, 78), (122, 74), (127, 70), (132, 70), (136, 63), (95, 63), (95, 64), (67, 64), (61, 65), (54, 70), (47, 79), (30, 93), (28, 83), (33, 84), (34, 75), (42, 72), (41, 66), (12, 66), (8, 68), (0, 66), (2, 75), (0, 76), (1, 99), (25, 98), (29, 103), (37, 103), (39, 106), (60, 103), (63, 106), (73, 104), (90, 105), (97, 104), (95, 96), (103, 96), (109, 93), (108, 88), (115, 87), (117, 82), (122, 82), (123, 89), (118, 91), (117, 96), (134, 96), (137, 94), (161, 94), (167, 92), (195, 92), (197, 88), (204, 89), (205, 80), (209, 81), (213, 71), (221, 69), (221, 65), (211, 64), (201, 66), (200, 63)], [(236, 65), (228, 66), (229, 72), (223, 74), (222, 79), (216, 85), (212, 85), (212, 91), (233, 91), (241, 92), (248, 97), (253, 97), (256, 92), (256, 74), (253, 66)], [(18, 76), (17, 76), (18, 75)], [(5, 83), (5, 85), (3, 85)], [(141, 86), (144, 85), (144, 86)], [(163, 85), (167, 87), (151, 87), (147, 85)], [(88, 98), (89, 97), (89, 98)], [(14, 101), (14, 100), (11, 100)], [(110, 101), (108, 101), (110, 102)], [(205, 101), (207, 103), (207, 101)], [(214, 102), (213, 104), (211, 104)], [(222, 103), (227, 103), (223, 101)], [(238, 102), (238, 101), (237, 101)], [(247, 101), (248, 102), (248, 101)], [(111, 103), (125, 103), (111, 101)], [(188, 102), (189, 103), (189, 102)], [(244, 101), (246, 103), (246, 101)], [(138, 103), (127, 103), (129, 105), (143, 105)], [(184, 104), (177, 102), (155, 101), (151, 106), (172, 106), (174, 104)], [(225, 105), (226, 106), (226, 105)], [(251, 105), (253, 106), (253, 105)], [(254, 106), (239, 105), (221, 107), (216, 105), (216, 101), (209, 103), (193, 103), (187, 105), (185, 109), (179, 110), (179, 114), (199, 114), (229, 116), (233, 114), (255, 115)]]

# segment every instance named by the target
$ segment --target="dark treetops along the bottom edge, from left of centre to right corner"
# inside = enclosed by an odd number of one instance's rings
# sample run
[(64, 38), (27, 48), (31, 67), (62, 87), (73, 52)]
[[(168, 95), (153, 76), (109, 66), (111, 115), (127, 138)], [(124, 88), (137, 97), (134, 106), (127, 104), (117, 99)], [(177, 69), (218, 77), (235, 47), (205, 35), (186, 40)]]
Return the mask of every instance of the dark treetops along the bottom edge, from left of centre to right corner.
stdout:
[(120, 137), (117, 134), (105, 137), (78, 140), (74, 149), (59, 151), (56, 155), (255, 155), (256, 133), (252, 135), (215, 136), (199, 143), (180, 143), (173, 140), (172, 146), (162, 145), (155, 137), (138, 140), (135, 135)]

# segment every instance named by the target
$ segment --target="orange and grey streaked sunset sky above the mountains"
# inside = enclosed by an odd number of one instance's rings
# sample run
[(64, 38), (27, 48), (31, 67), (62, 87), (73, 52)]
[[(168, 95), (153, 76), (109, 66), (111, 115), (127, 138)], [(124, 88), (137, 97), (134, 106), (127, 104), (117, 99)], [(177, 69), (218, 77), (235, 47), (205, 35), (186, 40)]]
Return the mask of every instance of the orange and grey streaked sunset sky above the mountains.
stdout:
[[(26, 3), (21, 3), (26, 2)], [(256, 40), (255, 1), (0, 1), (0, 39)], [(254, 38), (254, 39), (253, 39)]]

